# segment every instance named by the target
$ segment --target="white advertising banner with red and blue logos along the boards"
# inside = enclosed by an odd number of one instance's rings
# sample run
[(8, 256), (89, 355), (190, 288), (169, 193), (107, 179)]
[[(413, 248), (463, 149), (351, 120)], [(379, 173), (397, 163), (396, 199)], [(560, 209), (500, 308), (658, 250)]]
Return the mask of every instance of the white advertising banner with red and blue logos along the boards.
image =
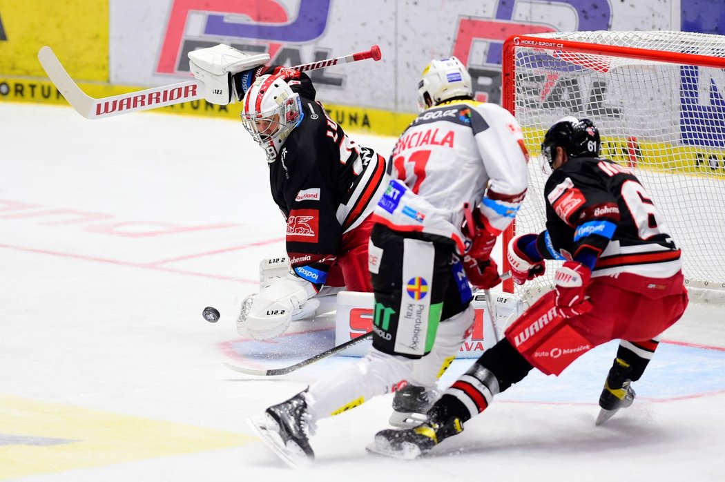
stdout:
[(112, 82), (155, 86), (188, 75), (188, 51), (228, 43), (297, 65), (369, 49), (380, 62), (311, 72), (320, 100), (415, 112), (431, 58), (456, 55), (480, 100), (500, 99), (501, 47), (514, 33), (679, 30), (679, 0), (111, 0)]

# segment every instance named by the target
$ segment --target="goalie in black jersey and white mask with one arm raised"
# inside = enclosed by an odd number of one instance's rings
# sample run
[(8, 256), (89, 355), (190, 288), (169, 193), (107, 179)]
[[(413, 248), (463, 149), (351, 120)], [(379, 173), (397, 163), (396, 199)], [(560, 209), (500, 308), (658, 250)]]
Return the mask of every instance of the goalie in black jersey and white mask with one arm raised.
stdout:
[(315, 312), (323, 287), (373, 291), (370, 215), (387, 184), (385, 159), (327, 115), (304, 72), (265, 66), (267, 54), (225, 45), (189, 58), (207, 99), (243, 102), (241, 120), (265, 150), (272, 198), (287, 225), (282, 274), (244, 299), (239, 333), (260, 340), (281, 335), (291, 320)]

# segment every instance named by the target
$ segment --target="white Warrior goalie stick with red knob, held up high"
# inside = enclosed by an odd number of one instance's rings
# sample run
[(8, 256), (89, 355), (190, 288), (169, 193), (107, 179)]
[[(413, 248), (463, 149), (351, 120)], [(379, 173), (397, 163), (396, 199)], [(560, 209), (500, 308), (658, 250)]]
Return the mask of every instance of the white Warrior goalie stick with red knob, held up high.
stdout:
[[(307, 70), (322, 69), (331, 65), (357, 62), (358, 60), (373, 59), (380, 60), (380, 47), (373, 45), (370, 50), (349, 54), (334, 59), (310, 62), (309, 64), (295, 65), (291, 67), (300, 72)], [(65, 100), (86, 119), (101, 119), (114, 115), (128, 114), (141, 110), (156, 109), (167, 105), (181, 104), (182, 102), (194, 101), (204, 98), (204, 83), (199, 80), (188, 80), (186, 82), (174, 83), (169, 86), (147, 88), (142, 91), (129, 92), (117, 96), (91, 97), (78, 87), (65, 67), (56, 57), (53, 49), (44, 46), (38, 51), (38, 60), (46, 71), (51, 82), (55, 84), (58, 91), (63, 94)]]

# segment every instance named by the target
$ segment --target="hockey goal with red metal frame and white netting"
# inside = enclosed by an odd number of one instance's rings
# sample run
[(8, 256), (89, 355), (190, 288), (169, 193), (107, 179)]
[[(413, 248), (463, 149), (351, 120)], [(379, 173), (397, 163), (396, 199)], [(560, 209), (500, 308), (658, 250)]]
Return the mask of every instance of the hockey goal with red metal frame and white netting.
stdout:
[[(544, 230), (547, 175), (539, 154), (546, 130), (564, 115), (588, 117), (600, 130), (602, 157), (631, 167), (654, 197), (682, 248), (691, 299), (724, 303), (725, 36), (514, 36), (502, 65), (503, 106), (521, 123), (531, 153), (529, 194), (505, 240), (514, 230)], [(556, 267), (550, 262), (547, 275), (516, 292), (531, 298), (546, 291)]]

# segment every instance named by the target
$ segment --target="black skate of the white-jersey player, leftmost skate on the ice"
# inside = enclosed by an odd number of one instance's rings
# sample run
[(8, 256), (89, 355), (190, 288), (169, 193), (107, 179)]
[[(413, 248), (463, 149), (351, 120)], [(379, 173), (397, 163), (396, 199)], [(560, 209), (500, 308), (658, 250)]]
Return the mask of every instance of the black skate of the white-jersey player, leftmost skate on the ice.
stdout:
[(257, 436), (292, 468), (315, 460), (315, 452), (307, 440), (313, 428), (305, 392), (307, 390), (269, 407), (262, 417), (247, 420)]

